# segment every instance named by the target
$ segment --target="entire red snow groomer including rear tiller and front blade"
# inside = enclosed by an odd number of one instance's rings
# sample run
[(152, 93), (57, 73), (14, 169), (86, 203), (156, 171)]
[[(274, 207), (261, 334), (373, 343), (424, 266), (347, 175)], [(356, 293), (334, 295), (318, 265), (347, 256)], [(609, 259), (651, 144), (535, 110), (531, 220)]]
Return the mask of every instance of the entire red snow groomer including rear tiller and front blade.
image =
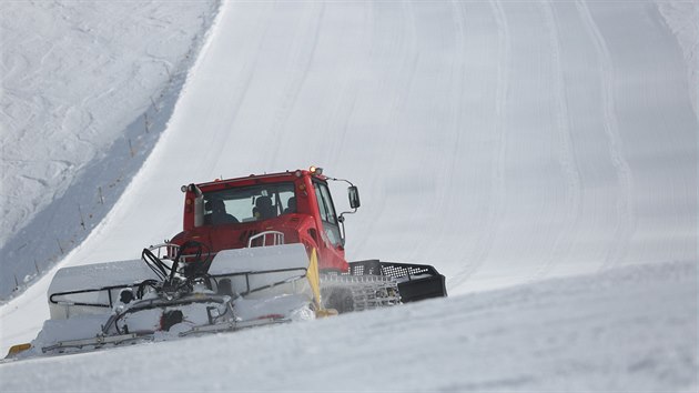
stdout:
[[(183, 231), (140, 260), (60, 269), (51, 318), (10, 357), (71, 353), (446, 296), (429, 265), (345, 260), (318, 168), (183, 185)], [(359, 206), (347, 182), (350, 206)]]

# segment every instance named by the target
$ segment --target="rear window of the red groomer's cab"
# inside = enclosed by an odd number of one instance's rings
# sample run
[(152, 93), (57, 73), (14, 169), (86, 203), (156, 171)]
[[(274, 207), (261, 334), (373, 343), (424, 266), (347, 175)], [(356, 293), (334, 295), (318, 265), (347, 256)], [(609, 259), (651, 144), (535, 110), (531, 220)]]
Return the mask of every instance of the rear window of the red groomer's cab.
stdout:
[(296, 212), (294, 183), (272, 183), (204, 192), (204, 224), (272, 219)]

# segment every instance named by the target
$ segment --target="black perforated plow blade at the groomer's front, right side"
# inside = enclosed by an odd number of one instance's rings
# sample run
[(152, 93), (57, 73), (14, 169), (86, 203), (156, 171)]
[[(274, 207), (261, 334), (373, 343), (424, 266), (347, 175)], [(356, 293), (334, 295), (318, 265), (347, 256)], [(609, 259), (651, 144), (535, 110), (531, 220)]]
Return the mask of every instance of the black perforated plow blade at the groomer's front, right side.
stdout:
[(381, 275), (398, 283), (401, 302), (409, 303), (432, 298), (446, 298), (446, 280), (434, 266), (366, 260), (350, 262), (352, 275)]

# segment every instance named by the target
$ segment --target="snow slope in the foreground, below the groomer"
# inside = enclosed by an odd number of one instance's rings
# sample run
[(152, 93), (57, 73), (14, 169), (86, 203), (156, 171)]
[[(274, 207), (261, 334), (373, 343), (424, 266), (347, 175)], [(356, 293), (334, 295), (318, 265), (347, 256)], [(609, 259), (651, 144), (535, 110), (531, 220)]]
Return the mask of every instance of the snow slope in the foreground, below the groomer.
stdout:
[[(3, 392), (696, 392), (697, 269), (631, 266), (0, 365)], [(688, 299), (695, 299), (688, 302)]]

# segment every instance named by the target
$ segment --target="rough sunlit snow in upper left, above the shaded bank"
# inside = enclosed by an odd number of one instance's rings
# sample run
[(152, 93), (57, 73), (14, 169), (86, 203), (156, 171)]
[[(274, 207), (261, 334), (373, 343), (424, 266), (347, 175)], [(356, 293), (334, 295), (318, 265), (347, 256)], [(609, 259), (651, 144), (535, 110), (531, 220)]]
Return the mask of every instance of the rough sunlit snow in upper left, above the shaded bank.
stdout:
[(151, 105), (205, 6), (3, 2), (0, 243)]

